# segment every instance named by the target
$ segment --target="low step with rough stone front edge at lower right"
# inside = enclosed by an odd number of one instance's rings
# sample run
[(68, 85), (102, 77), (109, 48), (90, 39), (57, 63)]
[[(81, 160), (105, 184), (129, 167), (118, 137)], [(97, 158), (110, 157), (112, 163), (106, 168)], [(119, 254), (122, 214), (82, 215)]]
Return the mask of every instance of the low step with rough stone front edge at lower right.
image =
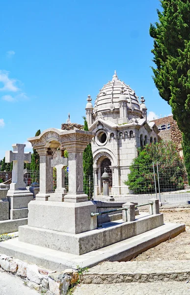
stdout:
[(83, 273), (84, 284), (190, 280), (190, 261), (103, 262)]

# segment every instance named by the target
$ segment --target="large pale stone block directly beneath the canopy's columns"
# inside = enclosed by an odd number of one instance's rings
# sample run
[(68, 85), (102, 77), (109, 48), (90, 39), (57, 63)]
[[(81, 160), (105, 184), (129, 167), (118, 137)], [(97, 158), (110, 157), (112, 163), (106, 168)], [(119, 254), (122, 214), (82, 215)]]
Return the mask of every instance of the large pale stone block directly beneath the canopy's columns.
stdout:
[(33, 201), (28, 204), (28, 226), (56, 232), (79, 234), (97, 227), (94, 202), (68, 203)]

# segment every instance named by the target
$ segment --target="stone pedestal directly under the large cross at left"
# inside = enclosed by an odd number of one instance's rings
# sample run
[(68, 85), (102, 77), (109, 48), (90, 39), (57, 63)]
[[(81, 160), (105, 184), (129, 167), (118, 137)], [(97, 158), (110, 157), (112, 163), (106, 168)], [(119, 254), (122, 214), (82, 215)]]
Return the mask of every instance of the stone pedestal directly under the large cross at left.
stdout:
[(33, 194), (28, 190), (9, 190), (7, 193), (9, 202), (9, 218), (19, 219), (27, 218), (28, 203), (33, 200)]

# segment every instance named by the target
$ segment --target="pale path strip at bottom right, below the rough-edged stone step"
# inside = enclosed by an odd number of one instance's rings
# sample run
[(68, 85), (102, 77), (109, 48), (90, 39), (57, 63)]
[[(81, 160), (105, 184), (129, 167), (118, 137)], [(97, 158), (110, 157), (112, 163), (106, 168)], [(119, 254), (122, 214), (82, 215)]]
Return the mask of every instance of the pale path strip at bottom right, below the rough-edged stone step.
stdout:
[(190, 295), (190, 283), (121, 283), (78, 286), (73, 295)]

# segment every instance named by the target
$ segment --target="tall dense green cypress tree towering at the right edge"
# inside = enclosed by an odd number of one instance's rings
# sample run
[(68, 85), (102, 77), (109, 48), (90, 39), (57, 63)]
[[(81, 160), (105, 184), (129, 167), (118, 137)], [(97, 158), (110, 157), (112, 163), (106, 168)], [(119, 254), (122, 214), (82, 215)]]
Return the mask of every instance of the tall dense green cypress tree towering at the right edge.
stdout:
[(171, 106), (183, 133), (183, 151), (190, 183), (190, 1), (160, 0), (159, 22), (150, 25), (154, 39), (154, 82)]

